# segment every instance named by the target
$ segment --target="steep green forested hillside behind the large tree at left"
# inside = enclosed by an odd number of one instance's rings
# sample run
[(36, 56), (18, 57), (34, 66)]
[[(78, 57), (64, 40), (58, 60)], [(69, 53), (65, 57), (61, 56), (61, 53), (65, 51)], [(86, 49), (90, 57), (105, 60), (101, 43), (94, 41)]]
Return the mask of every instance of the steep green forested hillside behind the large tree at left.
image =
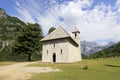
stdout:
[[(34, 25), (34, 24), (33, 24)], [(0, 60), (26, 60), (26, 54), (13, 53), (12, 47), (18, 34), (22, 34), (22, 28), (27, 26), (17, 17), (9, 16), (0, 8)], [(39, 26), (39, 25), (38, 25)], [(39, 26), (40, 28), (40, 26)], [(42, 30), (41, 30), (42, 35)], [(33, 54), (32, 58), (40, 59), (41, 54)], [(34, 60), (34, 59), (33, 59)]]

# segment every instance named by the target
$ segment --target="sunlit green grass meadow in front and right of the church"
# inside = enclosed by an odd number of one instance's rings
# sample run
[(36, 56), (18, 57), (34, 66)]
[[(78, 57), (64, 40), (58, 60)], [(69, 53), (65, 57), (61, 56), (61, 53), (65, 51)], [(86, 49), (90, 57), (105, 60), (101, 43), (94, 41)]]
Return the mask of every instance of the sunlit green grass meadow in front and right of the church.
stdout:
[[(83, 60), (73, 64), (37, 63), (29, 66), (59, 68), (62, 72), (33, 74), (29, 80), (120, 80), (120, 58)], [(88, 69), (83, 70), (83, 67)]]

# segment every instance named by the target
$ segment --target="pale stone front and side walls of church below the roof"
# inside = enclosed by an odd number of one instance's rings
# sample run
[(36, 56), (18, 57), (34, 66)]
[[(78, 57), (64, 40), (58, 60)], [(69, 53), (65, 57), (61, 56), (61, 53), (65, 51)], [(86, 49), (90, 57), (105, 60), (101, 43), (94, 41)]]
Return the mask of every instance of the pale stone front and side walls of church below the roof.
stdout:
[(75, 45), (69, 39), (43, 42), (42, 62), (53, 62), (54, 53), (58, 63), (81, 61), (80, 46)]

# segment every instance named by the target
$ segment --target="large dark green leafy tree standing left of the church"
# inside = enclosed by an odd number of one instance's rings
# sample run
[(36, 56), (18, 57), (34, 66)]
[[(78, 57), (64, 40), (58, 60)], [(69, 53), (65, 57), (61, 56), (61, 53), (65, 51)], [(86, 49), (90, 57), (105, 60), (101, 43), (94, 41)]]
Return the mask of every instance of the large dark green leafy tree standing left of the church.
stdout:
[(28, 23), (17, 34), (12, 51), (19, 54), (28, 54), (28, 61), (31, 61), (32, 53), (38, 52), (41, 49), (40, 39), (42, 37), (40, 26)]

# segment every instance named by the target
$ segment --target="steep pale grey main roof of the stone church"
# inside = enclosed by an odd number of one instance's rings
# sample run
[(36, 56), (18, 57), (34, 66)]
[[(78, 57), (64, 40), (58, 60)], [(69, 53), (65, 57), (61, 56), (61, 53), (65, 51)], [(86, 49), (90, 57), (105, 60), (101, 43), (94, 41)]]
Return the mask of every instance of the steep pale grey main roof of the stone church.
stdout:
[(48, 40), (61, 39), (61, 38), (70, 38), (74, 43), (78, 45), (78, 43), (61, 26), (55, 29), (50, 34), (48, 34), (46, 37), (44, 37), (40, 41), (48, 41)]

